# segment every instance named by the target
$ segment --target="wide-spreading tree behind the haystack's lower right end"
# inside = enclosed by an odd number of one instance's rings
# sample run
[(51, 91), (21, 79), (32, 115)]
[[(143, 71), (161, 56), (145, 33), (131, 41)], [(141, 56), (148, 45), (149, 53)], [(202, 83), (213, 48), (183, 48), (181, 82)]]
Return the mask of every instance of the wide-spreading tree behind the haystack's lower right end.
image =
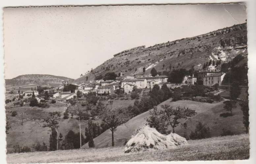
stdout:
[(172, 133), (175, 133), (175, 127), (179, 125), (181, 119), (190, 119), (192, 116), (196, 114), (195, 110), (180, 107), (178, 106), (176, 109), (173, 107), (170, 107), (170, 105), (161, 105), (162, 119), (165, 120), (166, 126), (171, 125), (172, 127)]

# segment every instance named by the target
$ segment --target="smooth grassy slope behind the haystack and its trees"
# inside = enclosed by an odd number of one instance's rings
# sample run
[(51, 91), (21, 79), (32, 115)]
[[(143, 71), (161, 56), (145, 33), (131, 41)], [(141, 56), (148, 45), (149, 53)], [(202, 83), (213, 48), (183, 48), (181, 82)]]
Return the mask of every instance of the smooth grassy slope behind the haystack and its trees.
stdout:
[[(224, 100), (223, 100), (224, 101)], [(207, 124), (211, 129), (212, 136), (219, 136), (222, 133), (222, 129), (229, 129), (234, 134), (244, 133), (244, 126), (242, 123), (242, 111), (240, 106), (234, 110), (234, 115), (232, 117), (220, 117), (220, 113), (225, 113), (223, 110), (223, 101), (218, 103), (202, 103), (190, 100), (179, 100), (172, 102), (166, 100), (157, 106), (160, 109), (161, 105), (167, 104), (176, 108), (177, 106), (188, 107), (197, 112), (197, 114), (191, 118), (191, 120), (181, 121), (179, 126), (175, 128), (175, 133), (183, 136), (184, 129), (181, 126), (182, 123), (187, 123), (187, 134), (189, 135), (191, 131), (194, 131), (196, 124), (201, 121), (203, 124)], [(122, 124), (117, 127), (117, 130), (114, 134), (115, 145), (121, 146), (127, 141), (132, 133), (143, 126), (146, 123), (145, 118), (150, 116), (150, 111), (141, 113), (132, 119), (130, 119), (125, 124)], [(228, 124), (227, 124), (228, 122)], [(94, 138), (95, 147), (108, 147), (111, 145), (111, 131), (107, 130), (104, 133), (100, 134), (98, 137)], [(88, 148), (88, 144), (82, 146), (82, 148)]]

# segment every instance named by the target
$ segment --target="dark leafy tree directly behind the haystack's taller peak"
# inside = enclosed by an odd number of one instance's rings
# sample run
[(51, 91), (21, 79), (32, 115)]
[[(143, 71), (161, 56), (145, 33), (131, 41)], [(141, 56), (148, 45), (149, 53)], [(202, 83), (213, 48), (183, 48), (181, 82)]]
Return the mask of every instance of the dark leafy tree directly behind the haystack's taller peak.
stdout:
[(165, 122), (162, 119), (161, 112), (157, 111), (157, 107), (154, 106), (153, 111), (150, 111), (150, 116), (146, 118), (147, 124), (151, 128), (155, 128), (161, 134), (168, 134)]

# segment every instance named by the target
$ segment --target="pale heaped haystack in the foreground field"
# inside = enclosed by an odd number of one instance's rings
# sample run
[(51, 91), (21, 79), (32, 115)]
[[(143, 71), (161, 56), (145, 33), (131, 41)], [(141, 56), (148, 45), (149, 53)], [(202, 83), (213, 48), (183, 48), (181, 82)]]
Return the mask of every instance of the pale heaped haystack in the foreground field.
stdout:
[(178, 145), (187, 144), (184, 137), (175, 133), (161, 134), (155, 128), (145, 126), (131, 137), (125, 147), (125, 153), (147, 150), (166, 150)]

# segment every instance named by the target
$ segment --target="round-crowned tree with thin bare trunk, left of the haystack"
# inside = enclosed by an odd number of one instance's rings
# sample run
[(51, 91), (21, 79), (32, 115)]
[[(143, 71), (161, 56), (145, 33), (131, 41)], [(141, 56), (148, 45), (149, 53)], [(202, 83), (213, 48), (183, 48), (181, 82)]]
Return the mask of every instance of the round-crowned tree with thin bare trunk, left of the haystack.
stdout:
[(118, 111), (121, 110), (121, 108), (111, 109), (109, 107), (105, 107), (100, 112), (101, 120), (107, 124), (112, 133), (112, 146), (114, 146), (114, 132), (116, 131), (117, 126), (126, 122), (126, 117), (121, 113), (118, 113)]

